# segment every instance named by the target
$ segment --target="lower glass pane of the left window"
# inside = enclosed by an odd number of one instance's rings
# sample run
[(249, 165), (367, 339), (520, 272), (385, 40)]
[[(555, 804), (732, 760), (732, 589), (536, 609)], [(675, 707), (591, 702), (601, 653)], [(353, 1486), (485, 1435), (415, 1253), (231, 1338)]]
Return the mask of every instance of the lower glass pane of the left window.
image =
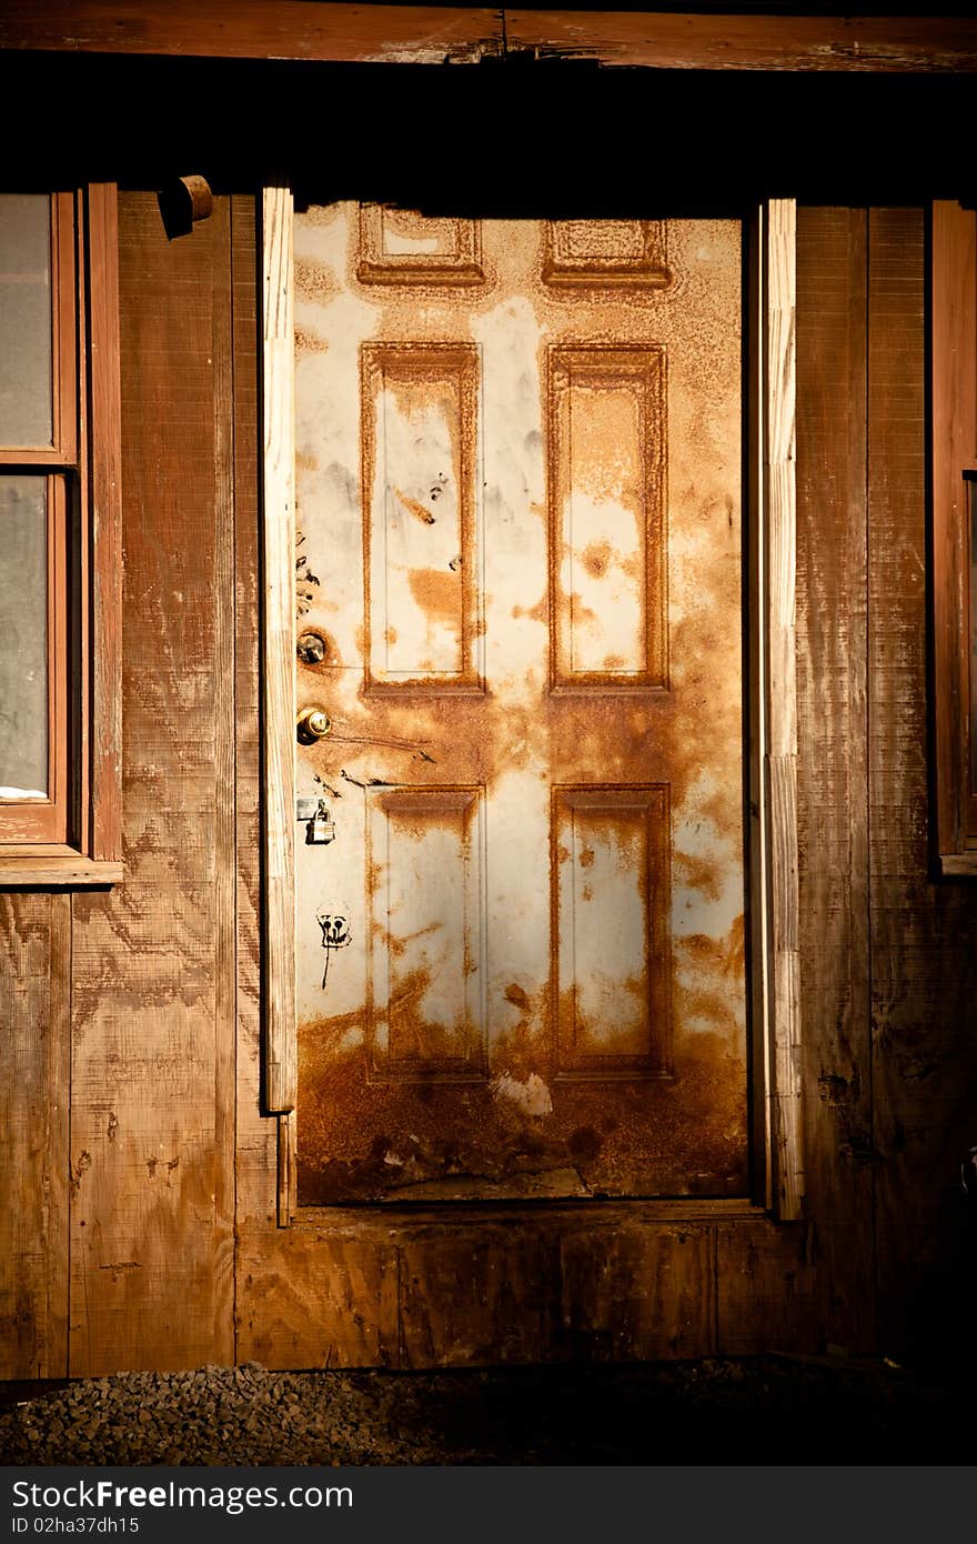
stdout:
[(0, 798), (48, 797), (45, 477), (0, 477)]

